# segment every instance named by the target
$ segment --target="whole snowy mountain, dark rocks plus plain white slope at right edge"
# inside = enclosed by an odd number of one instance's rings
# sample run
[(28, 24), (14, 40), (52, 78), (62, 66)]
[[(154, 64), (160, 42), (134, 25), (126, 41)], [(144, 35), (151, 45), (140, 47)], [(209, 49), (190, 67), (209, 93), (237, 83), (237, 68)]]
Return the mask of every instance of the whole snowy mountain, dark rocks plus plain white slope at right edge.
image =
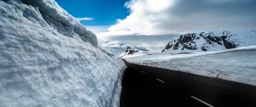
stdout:
[(201, 51), (218, 51), (256, 44), (255, 31), (233, 34), (230, 31), (201, 32), (181, 35), (168, 42), (162, 52), (191, 53)]

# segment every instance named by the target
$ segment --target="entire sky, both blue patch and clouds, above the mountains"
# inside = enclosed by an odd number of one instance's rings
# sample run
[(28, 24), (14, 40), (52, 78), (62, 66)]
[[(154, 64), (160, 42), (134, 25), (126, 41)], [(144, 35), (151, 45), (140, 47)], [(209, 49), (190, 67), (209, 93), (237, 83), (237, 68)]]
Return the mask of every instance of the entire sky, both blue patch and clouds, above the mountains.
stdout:
[(256, 29), (256, 0), (56, 0), (98, 37)]

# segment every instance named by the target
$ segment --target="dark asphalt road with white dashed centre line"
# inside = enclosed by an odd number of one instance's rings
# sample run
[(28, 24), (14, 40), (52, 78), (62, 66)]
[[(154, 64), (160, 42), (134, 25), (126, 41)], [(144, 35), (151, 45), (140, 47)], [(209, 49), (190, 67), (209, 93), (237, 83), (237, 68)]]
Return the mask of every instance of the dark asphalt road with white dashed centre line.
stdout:
[(125, 64), (121, 107), (256, 107), (256, 87), (251, 85)]

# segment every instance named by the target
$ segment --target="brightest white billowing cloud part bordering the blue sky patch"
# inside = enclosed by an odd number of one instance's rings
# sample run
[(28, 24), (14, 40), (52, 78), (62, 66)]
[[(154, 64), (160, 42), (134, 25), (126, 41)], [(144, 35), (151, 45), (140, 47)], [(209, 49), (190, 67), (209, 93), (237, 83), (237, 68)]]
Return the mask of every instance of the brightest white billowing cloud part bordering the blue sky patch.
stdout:
[(105, 36), (132, 35), (132, 34), (157, 34), (160, 30), (154, 29), (160, 19), (165, 19), (164, 13), (173, 4), (173, 0), (133, 0), (125, 3), (130, 8), (131, 14), (125, 20), (117, 20), (117, 24), (111, 25)]

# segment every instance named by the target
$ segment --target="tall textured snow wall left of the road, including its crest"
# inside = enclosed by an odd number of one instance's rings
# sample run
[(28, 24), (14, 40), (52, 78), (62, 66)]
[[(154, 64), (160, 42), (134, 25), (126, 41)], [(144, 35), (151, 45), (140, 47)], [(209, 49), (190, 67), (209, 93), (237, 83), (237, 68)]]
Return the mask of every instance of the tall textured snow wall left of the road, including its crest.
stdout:
[(1, 107), (117, 107), (124, 63), (54, 0), (0, 0)]

